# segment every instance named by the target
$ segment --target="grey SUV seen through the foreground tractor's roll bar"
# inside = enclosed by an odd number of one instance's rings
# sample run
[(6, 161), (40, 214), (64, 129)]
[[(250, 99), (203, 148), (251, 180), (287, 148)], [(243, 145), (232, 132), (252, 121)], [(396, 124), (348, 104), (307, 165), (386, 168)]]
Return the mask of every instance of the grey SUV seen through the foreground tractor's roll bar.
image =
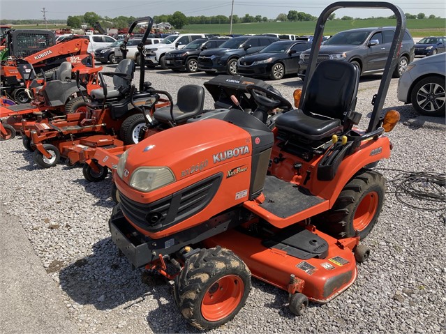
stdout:
[[(321, 45), (318, 63), (327, 59), (349, 61), (359, 68), (361, 75), (380, 73), (384, 70), (390, 46), (395, 34), (394, 26), (361, 28), (336, 33)], [(310, 50), (302, 52), (297, 76), (304, 79), (309, 63)], [(398, 66), (393, 77), (400, 77), (408, 63), (415, 58), (415, 43), (406, 30), (401, 43)]]

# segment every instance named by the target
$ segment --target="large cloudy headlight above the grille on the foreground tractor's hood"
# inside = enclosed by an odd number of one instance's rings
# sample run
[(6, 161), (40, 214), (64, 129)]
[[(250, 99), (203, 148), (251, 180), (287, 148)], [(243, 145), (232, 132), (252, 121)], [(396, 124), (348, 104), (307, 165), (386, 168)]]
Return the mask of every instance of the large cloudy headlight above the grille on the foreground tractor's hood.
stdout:
[(140, 167), (133, 172), (131, 187), (142, 192), (149, 192), (175, 181), (175, 176), (168, 167)]

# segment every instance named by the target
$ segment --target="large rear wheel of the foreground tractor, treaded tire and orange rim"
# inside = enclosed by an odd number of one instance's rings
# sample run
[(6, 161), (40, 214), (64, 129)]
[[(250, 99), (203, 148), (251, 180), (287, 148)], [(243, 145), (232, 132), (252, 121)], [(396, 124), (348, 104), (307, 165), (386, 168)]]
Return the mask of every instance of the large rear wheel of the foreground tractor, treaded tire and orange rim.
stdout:
[(362, 170), (344, 186), (334, 206), (315, 218), (316, 226), (334, 238), (350, 238), (356, 231), (360, 240), (366, 238), (378, 220), (385, 190), (384, 176)]

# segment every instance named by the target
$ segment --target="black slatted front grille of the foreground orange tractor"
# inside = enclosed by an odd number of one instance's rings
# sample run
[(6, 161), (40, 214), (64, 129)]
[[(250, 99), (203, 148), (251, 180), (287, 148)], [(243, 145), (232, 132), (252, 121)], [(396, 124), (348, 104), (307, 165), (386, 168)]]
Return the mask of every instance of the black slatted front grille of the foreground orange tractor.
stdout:
[(138, 227), (150, 232), (161, 231), (205, 208), (216, 194), (222, 179), (221, 173), (209, 176), (149, 204), (135, 202), (119, 193), (122, 211)]

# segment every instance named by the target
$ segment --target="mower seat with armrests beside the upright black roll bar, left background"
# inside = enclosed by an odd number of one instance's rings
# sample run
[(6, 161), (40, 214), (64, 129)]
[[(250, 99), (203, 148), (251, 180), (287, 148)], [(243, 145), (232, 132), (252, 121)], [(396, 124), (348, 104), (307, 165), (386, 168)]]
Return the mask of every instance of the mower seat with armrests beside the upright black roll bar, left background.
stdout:
[(113, 89), (109, 89), (105, 82), (102, 82), (102, 89), (93, 89), (90, 93), (94, 100), (104, 100), (108, 98), (124, 98), (126, 92), (131, 88), (133, 73), (135, 73), (135, 62), (131, 59), (119, 61), (114, 73), (102, 73), (113, 77)]

